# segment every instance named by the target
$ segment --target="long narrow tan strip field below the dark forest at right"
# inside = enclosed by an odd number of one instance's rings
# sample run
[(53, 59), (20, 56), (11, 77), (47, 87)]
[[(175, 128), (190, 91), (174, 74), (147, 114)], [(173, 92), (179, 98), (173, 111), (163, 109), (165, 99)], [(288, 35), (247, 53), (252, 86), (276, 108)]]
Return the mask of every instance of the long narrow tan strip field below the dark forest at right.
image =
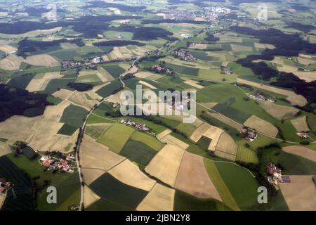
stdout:
[(282, 94), (284, 96), (288, 96), (287, 100), (291, 102), (292, 105), (306, 105), (307, 101), (306, 99), (301, 96), (301, 95), (297, 95), (295, 94), (294, 91), (288, 91), (288, 90), (284, 90), (284, 89), (279, 89), (277, 87), (274, 86), (268, 86), (265, 84), (258, 84), (256, 82), (251, 82), (249, 80), (246, 79), (241, 79), (241, 78), (237, 78), (237, 83), (239, 84), (247, 84), (250, 86), (254, 86), (258, 89), (263, 89), (263, 90), (267, 90), (267, 91), (272, 91), (274, 93), (277, 94)]

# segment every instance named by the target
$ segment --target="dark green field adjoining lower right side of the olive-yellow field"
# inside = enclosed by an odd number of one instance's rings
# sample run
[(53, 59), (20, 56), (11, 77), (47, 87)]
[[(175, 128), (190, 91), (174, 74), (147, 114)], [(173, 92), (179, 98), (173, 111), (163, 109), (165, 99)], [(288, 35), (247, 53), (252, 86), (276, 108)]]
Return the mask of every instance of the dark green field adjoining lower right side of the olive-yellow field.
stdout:
[(140, 141), (129, 140), (125, 144), (124, 148), (119, 152), (119, 155), (122, 155), (132, 162), (137, 162), (139, 165), (145, 167), (148, 165), (150, 160), (154, 158), (157, 151), (150, 148)]

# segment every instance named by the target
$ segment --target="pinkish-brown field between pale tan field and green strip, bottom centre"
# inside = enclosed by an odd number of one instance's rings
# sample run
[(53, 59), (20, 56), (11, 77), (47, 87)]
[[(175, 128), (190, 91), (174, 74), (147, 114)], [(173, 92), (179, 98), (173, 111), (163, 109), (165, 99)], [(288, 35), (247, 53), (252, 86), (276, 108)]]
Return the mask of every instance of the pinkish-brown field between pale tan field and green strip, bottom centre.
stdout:
[(199, 155), (184, 153), (174, 187), (197, 198), (213, 198), (222, 201), (206, 172), (203, 158)]

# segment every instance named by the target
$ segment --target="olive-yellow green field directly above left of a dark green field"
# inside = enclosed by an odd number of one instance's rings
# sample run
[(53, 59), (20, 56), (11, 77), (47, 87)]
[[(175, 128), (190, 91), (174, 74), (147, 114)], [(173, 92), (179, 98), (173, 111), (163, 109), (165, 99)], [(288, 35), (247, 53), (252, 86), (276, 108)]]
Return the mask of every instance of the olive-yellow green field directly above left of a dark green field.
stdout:
[(129, 140), (134, 129), (124, 124), (115, 123), (110, 129), (98, 138), (99, 143), (103, 143), (109, 147), (114, 153), (119, 153), (124, 147), (126, 141)]

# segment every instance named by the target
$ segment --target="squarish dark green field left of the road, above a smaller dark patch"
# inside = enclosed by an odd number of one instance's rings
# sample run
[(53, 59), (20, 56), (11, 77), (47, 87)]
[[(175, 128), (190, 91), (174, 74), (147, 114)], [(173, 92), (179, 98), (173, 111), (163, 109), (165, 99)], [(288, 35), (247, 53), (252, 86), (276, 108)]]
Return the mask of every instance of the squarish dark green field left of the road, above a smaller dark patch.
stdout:
[(65, 108), (64, 113), (62, 113), (60, 122), (79, 128), (84, 123), (84, 118), (87, 114), (88, 111), (84, 108), (77, 105), (69, 105)]

